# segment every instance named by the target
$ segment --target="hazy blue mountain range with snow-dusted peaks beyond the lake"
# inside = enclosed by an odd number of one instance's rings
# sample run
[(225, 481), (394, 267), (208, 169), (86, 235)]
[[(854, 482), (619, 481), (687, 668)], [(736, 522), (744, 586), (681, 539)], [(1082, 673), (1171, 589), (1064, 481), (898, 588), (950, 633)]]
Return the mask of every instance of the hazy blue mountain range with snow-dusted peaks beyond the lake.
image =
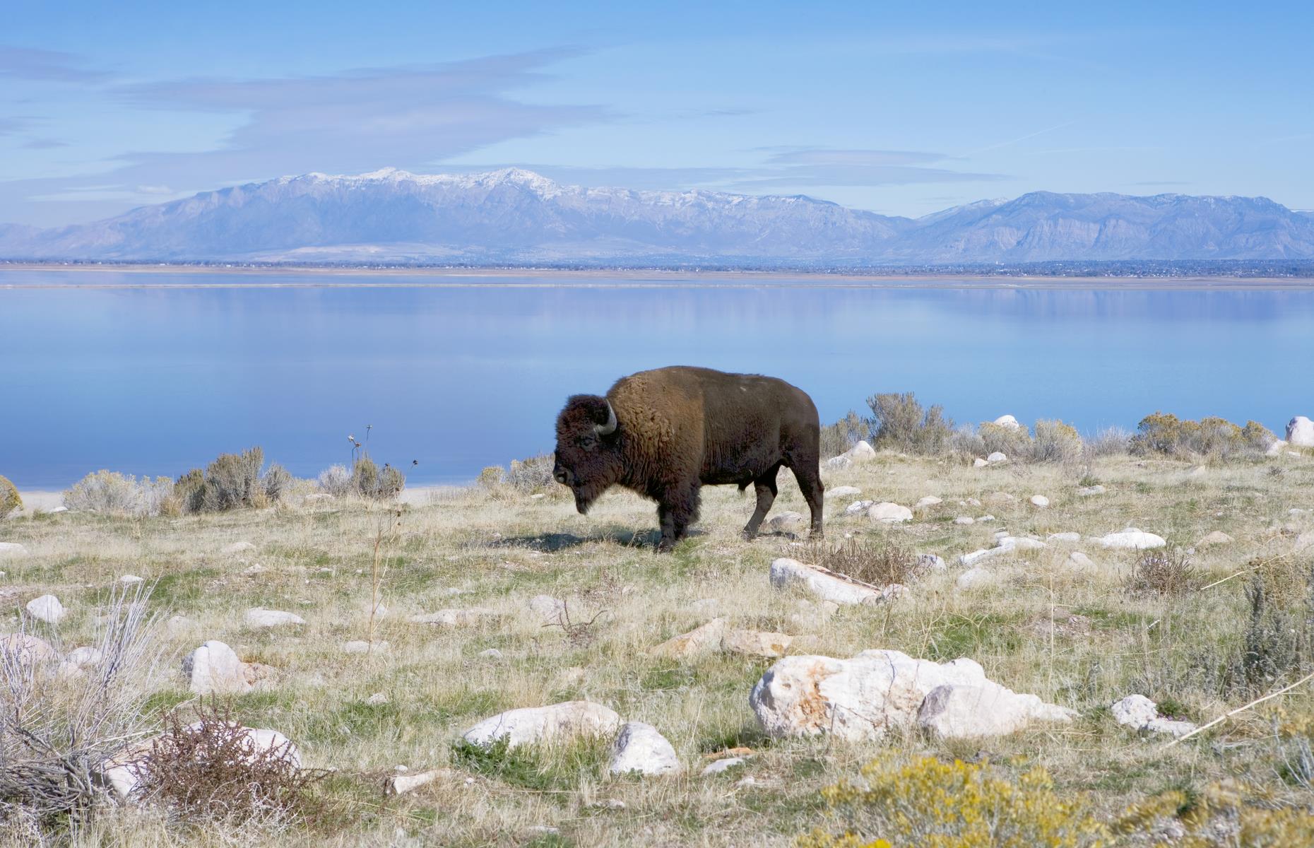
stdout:
[(532, 171), (279, 177), (55, 229), (0, 258), (727, 266), (1314, 259), (1314, 214), (1267, 197), (1031, 192), (920, 218), (805, 196), (562, 185)]

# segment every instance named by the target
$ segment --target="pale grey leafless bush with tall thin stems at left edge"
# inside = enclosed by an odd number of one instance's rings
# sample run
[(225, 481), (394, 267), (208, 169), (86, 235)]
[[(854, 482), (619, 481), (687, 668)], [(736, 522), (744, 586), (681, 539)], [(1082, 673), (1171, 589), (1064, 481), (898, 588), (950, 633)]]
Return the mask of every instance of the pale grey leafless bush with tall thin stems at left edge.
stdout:
[[(0, 652), (0, 813), (54, 827), (100, 797), (93, 774), (147, 728), (143, 706), (160, 665), (148, 589), (116, 590), (100, 660), (60, 672), (57, 660)], [(3, 816), (0, 816), (3, 818)]]

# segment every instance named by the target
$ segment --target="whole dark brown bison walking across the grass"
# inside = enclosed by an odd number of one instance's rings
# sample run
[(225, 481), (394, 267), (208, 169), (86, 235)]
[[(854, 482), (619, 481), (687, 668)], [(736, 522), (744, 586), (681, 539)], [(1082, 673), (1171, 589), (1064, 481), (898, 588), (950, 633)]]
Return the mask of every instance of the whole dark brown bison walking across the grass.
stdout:
[(821, 535), (821, 427), (812, 398), (783, 380), (677, 365), (616, 380), (606, 397), (574, 394), (557, 415), (553, 479), (587, 513), (622, 485), (657, 501), (658, 551), (698, 519), (703, 485), (753, 484), (752, 539), (775, 500), (775, 475), (794, 471)]

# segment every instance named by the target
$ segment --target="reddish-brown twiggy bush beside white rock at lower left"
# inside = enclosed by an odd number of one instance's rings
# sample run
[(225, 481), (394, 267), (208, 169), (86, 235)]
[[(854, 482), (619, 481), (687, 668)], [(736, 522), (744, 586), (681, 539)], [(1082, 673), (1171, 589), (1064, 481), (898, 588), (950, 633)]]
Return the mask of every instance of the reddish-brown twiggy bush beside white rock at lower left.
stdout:
[(137, 760), (142, 797), (185, 822), (260, 819), (286, 824), (309, 810), (309, 788), (325, 773), (302, 769), (292, 743), (265, 747), (217, 699), (184, 723), (164, 715), (164, 732)]

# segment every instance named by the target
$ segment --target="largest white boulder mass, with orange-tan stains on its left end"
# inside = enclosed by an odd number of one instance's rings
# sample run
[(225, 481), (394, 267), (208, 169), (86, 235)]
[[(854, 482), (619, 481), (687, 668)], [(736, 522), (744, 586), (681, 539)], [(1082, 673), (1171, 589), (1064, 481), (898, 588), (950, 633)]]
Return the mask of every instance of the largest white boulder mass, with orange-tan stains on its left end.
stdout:
[[(967, 689), (942, 692), (924, 706), (941, 688)], [(1035, 695), (995, 684), (972, 660), (940, 664), (899, 651), (863, 651), (849, 660), (786, 657), (762, 674), (749, 705), (771, 736), (834, 734), (853, 742), (917, 724), (947, 736), (984, 736), (1012, 732), (1031, 719), (1071, 718)]]

